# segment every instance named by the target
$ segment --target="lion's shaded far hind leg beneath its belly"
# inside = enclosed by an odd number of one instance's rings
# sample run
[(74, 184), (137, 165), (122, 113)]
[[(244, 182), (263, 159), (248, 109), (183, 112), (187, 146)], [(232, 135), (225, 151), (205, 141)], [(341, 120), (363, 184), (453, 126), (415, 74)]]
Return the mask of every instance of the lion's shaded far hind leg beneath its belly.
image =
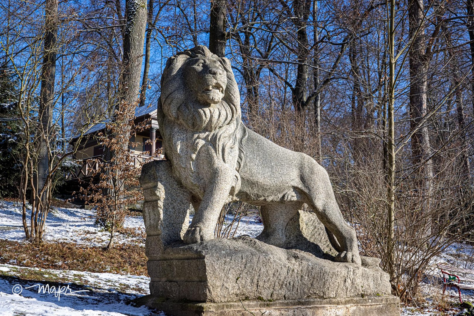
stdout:
[(285, 244), (285, 228), (303, 206), (302, 202), (271, 203), (261, 208), (264, 230), (256, 239), (282, 247)]

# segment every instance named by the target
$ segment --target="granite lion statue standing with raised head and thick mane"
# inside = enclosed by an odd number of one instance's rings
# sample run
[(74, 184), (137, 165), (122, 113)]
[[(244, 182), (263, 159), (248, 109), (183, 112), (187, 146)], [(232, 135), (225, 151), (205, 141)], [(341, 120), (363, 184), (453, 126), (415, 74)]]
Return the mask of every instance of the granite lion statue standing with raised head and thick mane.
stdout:
[[(326, 170), (310, 156), (280, 147), (242, 123), (227, 58), (205, 46), (169, 58), (157, 117), (166, 160), (146, 164), (140, 181), (144, 191), (159, 183), (153, 192), (162, 213), (153, 224), (155, 233), (147, 228), (148, 235), (166, 235), (165, 242), (180, 238), (191, 203), (195, 215), (184, 226), (183, 241), (213, 239), (222, 207), (244, 201), (261, 206), (264, 229), (257, 239), (282, 246), (286, 225), (306, 203), (335, 236), (337, 261), (361, 264), (356, 232), (337, 206)], [(144, 215), (145, 224), (153, 226), (154, 216)]]

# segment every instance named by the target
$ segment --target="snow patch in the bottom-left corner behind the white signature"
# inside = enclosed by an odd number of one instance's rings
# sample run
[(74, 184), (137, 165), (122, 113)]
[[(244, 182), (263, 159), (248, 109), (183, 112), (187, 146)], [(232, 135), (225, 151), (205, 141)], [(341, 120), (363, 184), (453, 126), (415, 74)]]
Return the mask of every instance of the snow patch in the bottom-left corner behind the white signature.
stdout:
[[(164, 316), (158, 311), (153, 314), (154, 311), (146, 307), (126, 304), (130, 299), (149, 294), (150, 279), (145, 276), (46, 270), (8, 264), (1, 264), (0, 268), (0, 316)], [(44, 280), (27, 280), (29, 273), (41, 274)], [(49, 287), (43, 291), (36, 284)], [(68, 285), (69, 288), (61, 288), (58, 298), (52, 287), (58, 289)], [(75, 291), (81, 292), (72, 293)]]

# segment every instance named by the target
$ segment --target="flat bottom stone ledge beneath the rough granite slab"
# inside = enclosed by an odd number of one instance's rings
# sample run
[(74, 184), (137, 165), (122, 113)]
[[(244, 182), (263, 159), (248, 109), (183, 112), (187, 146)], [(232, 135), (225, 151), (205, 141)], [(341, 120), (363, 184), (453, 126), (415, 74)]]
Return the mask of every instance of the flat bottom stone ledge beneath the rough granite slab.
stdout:
[(400, 300), (392, 295), (230, 303), (184, 303), (147, 295), (134, 305), (146, 305), (170, 316), (400, 316)]

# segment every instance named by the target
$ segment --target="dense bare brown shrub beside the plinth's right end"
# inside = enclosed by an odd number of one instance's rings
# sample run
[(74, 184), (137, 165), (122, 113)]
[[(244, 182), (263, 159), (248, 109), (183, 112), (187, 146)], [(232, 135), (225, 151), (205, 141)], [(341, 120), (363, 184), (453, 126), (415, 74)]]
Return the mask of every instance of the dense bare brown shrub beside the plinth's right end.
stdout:
[[(469, 216), (474, 192), (463, 192), (454, 176), (456, 166), (446, 161), (444, 172), (433, 181), (432, 196), (420, 196), (419, 179), (411, 176), (412, 169), (401, 159), (398, 163), (392, 287), (401, 298), (412, 301), (419, 299), (419, 282), (428, 266), (435, 263), (433, 259), (450, 245), (465, 240), (465, 218)], [(358, 230), (363, 252), (382, 258), (387, 271), (386, 188), (380, 181), (380, 160), (378, 164), (375, 161), (364, 167), (347, 166), (345, 187), (339, 188), (339, 194), (346, 215)]]

